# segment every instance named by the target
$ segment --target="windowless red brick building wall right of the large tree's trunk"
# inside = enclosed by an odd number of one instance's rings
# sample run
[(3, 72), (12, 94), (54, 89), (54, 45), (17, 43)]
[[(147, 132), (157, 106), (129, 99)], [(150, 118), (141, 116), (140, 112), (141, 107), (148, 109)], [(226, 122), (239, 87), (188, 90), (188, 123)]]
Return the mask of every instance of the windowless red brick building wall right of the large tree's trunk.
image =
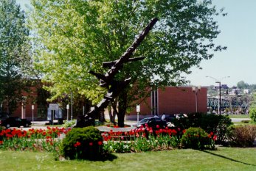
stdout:
[[(196, 105), (197, 104), (197, 105)], [(192, 87), (165, 87), (151, 92), (151, 97), (140, 104), (139, 119), (155, 114), (207, 113), (207, 87), (194, 92)], [(136, 118), (136, 109), (126, 114), (126, 120)]]

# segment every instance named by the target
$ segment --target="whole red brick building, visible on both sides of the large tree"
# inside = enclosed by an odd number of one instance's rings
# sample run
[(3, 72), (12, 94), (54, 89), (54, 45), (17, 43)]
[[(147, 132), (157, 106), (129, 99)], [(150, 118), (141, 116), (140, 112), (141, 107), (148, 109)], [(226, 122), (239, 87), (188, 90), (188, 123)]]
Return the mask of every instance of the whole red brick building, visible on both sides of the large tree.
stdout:
[[(42, 90), (41, 90), (42, 91)], [(41, 91), (31, 87), (30, 96), (32, 99), (37, 99), (42, 96)], [(44, 93), (43, 93), (44, 94)], [(24, 97), (29, 96), (24, 92)], [(44, 95), (43, 95), (44, 96)], [(197, 99), (197, 101), (196, 101)], [(45, 99), (46, 100), (46, 99)], [(33, 101), (26, 101), (18, 109), (13, 112), (13, 116), (27, 118), (32, 120), (32, 104), (34, 105), (33, 114), (35, 120), (46, 120), (47, 104), (38, 105)], [(196, 107), (197, 104), (197, 107)], [(158, 89), (151, 92), (151, 97), (148, 97), (140, 104), (139, 120), (144, 117), (152, 117), (155, 114), (182, 114), (196, 112), (207, 113), (207, 87), (201, 87), (200, 91), (193, 92), (192, 87), (165, 87), (165, 90)], [(105, 117), (108, 118), (108, 112), (105, 112)], [(132, 112), (125, 115), (125, 120), (136, 120), (136, 107)]]

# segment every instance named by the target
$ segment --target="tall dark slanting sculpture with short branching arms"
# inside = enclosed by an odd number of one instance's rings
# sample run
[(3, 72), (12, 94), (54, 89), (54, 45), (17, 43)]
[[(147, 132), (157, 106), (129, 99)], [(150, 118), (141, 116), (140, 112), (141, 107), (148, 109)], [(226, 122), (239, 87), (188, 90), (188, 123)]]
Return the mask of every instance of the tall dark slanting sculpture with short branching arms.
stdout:
[(144, 57), (130, 57), (134, 53), (135, 49), (139, 46), (139, 44), (142, 43), (142, 40), (145, 39), (153, 26), (156, 24), (156, 21), (158, 21), (158, 19), (153, 18), (151, 22), (148, 23), (148, 26), (145, 27), (142, 33), (139, 34), (139, 37), (134, 40), (134, 43), (132, 43), (132, 45), (125, 51), (125, 53), (122, 54), (122, 57), (120, 57), (120, 59), (111, 62), (103, 62), (104, 68), (110, 68), (108, 72), (105, 73), (105, 75), (101, 73), (95, 73), (92, 70), (89, 71), (89, 73), (96, 76), (97, 79), (100, 79), (100, 87), (107, 88), (108, 92), (106, 93), (106, 95), (104, 95), (103, 100), (100, 101), (97, 106), (91, 107), (90, 111), (86, 113), (86, 117), (77, 117), (77, 123), (75, 127), (85, 127), (91, 125), (91, 123), (94, 123), (95, 116), (103, 111), (108, 106), (108, 103), (110, 101), (113, 101), (114, 98), (117, 98), (117, 96), (124, 89), (124, 87), (128, 86), (131, 78), (125, 79), (124, 81), (116, 81), (114, 80), (114, 76), (119, 72), (119, 70), (121, 70), (123, 64), (144, 59)]

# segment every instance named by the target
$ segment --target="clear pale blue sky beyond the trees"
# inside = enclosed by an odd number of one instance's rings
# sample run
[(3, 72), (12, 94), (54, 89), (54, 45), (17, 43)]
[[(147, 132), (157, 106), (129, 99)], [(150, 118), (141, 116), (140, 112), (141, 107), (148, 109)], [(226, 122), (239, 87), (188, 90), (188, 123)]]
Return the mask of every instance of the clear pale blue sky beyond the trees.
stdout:
[[(16, 1), (22, 8), (30, 4), (30, 0)], [(216, 18), (221, 33), (215, 40), (227, 49), (202, 61), (201, 70), (192, 68), (187, 79), (195, 86), (215, 85), (215, 81), (229, 87), (239, 81), (256, 84), (256, 0), (212, 0), (212, 4), (227, 13)]]

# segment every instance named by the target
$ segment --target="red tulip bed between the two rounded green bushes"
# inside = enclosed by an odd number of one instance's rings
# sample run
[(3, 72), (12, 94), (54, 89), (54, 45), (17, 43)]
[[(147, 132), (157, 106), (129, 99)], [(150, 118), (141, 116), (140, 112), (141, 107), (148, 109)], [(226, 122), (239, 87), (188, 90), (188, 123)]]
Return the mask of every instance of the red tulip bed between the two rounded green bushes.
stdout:
[[(104, 149), (111, 153), (131, 153), (148, 150), (171, 150), (181, 148), (180, 139), (185, 130), (180, 128), (159, 128), (156, 130), (145, 125), (131, 131), (104, 132)], [(212, 136), (212, 135), (210, 135)], [(210, 137), (209, 136), (209, 137)]]

